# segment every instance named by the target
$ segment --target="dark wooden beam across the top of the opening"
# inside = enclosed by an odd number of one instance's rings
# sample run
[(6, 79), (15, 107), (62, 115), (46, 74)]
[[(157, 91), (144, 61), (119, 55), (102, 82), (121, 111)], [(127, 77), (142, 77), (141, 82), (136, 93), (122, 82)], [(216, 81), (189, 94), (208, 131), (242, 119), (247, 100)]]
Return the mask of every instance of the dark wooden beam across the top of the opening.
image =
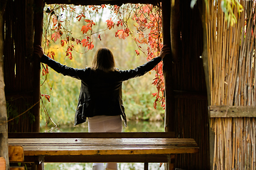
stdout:
[(101, 5), (101, 4), (111, 4), (111, 5), (119, 5), (122, 4), (159, 4), (161, 2), (160, 0), (100, 0), (100, 1), (94, 1), (94, 0), (46, 0), (46, 4), (75, 4), (75, 5)]

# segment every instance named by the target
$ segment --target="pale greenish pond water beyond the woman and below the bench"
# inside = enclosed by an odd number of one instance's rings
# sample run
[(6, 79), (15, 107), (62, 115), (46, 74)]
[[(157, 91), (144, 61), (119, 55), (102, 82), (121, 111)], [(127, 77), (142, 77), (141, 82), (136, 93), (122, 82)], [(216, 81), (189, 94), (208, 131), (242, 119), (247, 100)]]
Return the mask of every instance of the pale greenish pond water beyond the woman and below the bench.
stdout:
[[(41, 132), (87, 132), (87, 123), (75, 127), (60, 126), (58, 128), (41, 128)], [(129, 121), (123, 132), (164, 132), (164, 122)], [(144, 163), (119, 163), (118, 170), (144, 169)], [(45, 163), (46, 170), (91, 170), (92, 163)], [(164, 170), (160, 163), (149, 163), (151, 170)]]

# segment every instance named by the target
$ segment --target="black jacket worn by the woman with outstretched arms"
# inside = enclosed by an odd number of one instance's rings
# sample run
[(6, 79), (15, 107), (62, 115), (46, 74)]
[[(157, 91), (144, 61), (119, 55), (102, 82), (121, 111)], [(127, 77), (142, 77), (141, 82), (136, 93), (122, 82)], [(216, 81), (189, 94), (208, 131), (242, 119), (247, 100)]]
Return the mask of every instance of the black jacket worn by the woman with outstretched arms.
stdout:
[(41, 57), (41, 62), (48, 64), (49, 67), (64, 76), (81, 80), (75, 125), (84, 123), (87, 117), (95, 115), (122, 115), (126, 125), (127, 119), (122, 103), (122, 81), (146, 74), (161, 62), (161, 57), (156, 57), (135, 69), (107, 73), (90, 67), (85, 69), (67, 67), (46, 55)]

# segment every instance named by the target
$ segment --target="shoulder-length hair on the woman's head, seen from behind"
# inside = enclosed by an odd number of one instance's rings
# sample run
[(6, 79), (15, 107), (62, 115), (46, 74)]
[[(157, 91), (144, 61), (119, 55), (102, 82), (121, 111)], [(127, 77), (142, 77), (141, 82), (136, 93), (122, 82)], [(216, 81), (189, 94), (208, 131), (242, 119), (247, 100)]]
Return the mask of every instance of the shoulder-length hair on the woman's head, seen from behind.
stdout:
[(100, 69), (104, 72), (112, 72), (115, 69), (114, 56), (112, 52), (102, 47), (97, 50), (95, 57), (92, 60), (92, 69)]

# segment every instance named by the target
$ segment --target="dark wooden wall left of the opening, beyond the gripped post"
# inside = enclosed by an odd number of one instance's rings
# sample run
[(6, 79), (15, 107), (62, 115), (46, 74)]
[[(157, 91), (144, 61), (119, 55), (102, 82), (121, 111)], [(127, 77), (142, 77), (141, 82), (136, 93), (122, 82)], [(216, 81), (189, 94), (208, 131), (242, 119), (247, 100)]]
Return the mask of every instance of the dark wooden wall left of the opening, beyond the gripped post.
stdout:
[[(8, 1), (4, 13), (4, 81), (9, 120), (33, 106), (33, 17), (28, 0)], [(29, 11), (33, 15), (33, 11)], [(30, 24), (28, 24), (30, 23)], [(9, 122), (9, 132), (33, 131), (31, 111)]]

